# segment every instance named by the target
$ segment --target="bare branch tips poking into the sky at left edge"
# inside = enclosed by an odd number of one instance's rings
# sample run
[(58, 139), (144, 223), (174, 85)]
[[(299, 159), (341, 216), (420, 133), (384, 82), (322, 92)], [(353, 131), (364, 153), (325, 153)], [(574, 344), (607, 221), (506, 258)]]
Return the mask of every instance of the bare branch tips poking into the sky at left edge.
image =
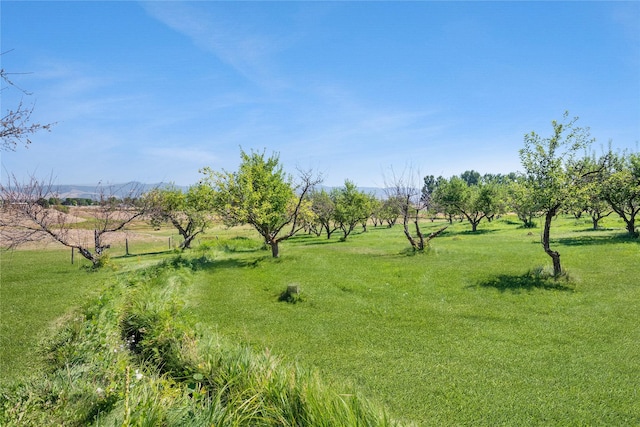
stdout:
[[(30, 96), (31, 93), (21, 89), (9, 79), (10, 74), (4, 68), (0, 69), (2, 92), (8, 88), (15, 88), (23, 95)], [(55, 123), (31, 123), (33, 110), (33, 104), (27, 106), (23, 101), (20, 101), (15, 109), (7, 109), (2, 112), (2, 119), (0, 119), (0, 151), (15, 151), (18, 144), (24, 144), (26, 147), (31, 144), (31, 135), (41, 130), (51, 130)]]

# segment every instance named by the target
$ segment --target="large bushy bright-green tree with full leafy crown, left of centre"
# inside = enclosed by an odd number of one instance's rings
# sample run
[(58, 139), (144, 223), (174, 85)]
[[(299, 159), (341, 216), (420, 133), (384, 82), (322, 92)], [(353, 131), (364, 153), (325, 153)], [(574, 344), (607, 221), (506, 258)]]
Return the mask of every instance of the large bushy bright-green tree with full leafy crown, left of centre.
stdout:
[[(300, 221), (303, 202), (322, 179), (311, 171), (301, 171), (300, 183), (294, 188), (277, 154), (265, 158), (264, 152), (240, 150), (240, 158), (237, 172), (202, 170), (206, 175), (204, 183), (213, 189), (214, 211), (226, 225), (251, 225), (277, 258), (279, 243), (304, 227)], [(283, 231), (285, 227), (289, 227), (287, 232)]]

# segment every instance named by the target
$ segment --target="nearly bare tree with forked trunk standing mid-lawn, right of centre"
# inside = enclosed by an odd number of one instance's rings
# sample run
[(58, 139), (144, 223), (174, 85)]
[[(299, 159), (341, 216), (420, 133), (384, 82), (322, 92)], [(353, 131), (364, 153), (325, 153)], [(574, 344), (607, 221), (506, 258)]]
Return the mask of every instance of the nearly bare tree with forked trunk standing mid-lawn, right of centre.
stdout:
[[(425, 236), (420, 229), (420, 212), (429, 207), (430, 199), (423, 197), (422, 188), (417, 185), (416, 176), (419, 174), (414, 174), (411, 168), (400, 175), (396, 175), (393, 170), (391, 173), (390, 182), (385, 178), (387, 199), (398, 203), (404, 235), (413, 250), (424, 251), (429, 246), (429, 241), (441, 234), (448, 226)], [(410, 229), (411, 222), (413, 222), (414, 233)]]

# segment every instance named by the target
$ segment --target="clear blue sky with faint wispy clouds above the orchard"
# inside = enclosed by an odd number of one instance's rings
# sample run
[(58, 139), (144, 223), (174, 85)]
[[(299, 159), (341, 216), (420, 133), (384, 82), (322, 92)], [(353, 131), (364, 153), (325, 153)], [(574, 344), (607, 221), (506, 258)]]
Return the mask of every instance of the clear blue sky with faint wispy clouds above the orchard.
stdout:
[(278, 152), (325, 184), (521, 169), (565, 110), (640, 140), (639, 2), (2, 1), (2, 67), (57, 122), (2, 179), (174, 182)]

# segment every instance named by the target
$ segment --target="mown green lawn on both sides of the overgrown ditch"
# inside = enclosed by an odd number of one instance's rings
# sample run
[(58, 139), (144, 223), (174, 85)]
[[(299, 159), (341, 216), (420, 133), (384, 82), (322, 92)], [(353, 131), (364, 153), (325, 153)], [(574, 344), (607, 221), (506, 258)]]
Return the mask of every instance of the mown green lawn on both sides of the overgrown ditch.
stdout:
[[(554, 223), (570, 277), (559, 282), (538, 274), (540, 230), (507, 220), (474, 234), (456, 223), (418, 255), (399, 227), (346, 242), (301, 235), (275, 260), (251, 230), (213, 230), (194, 250), (213, 262), (184, 297), (205, 327), (350, 381), (419, 425), (638, 425), (640, 242), (604, 225)], [(112, 260), (165, 256), (149, 252)], [(66, 252), (2, 255), (4, 378), (29, 369), (48, 325), (113, 274), (67, 264)], [(290, 284), (297, 304), (279, 301)]]

